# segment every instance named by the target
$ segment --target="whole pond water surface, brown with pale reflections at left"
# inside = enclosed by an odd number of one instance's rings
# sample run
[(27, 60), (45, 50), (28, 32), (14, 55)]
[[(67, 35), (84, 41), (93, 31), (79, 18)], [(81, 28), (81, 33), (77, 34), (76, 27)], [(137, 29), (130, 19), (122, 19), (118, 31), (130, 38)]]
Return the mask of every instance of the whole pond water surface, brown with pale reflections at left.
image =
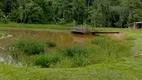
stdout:
[[(94, 35), (71, 34), (70, 31), (54, 31), (41, 29), (0, 29), (0, 62), (5, 64), (23, 65), (24, 59), (29, 60), (32, 56), (21, 55), (23, 60), (14, 61), (6, 50), (7, 46), (12, 45), (20, 39), (39, 38), (41, 40), (55, 40), (57, 45), (82, 44), (86, 40), (93, 38)], [(23, 61), (24, 62), (24, 61)], [(27, 62), (25, 61), (25, 65)]]

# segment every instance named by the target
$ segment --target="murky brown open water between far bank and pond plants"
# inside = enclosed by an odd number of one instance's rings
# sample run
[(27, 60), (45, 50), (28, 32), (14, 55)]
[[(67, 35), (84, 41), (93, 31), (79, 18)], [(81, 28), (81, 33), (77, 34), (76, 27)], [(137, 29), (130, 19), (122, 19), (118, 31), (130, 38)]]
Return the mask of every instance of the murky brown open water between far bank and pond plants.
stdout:
[[(0, 30), (2, 31), (2, 30)], [(82, 43), (86, 39), (93, 38), (94, 35), (81, 35), (81, 34), (71, 34), (69, 31), (34, 31), (34, 30), (3, 30), (7, 34), (13, 35), (12, 38), (5, 38), (0, 40), (0, 45), (2, 43), (11, 43), (18, 39), (26, 38), (40, 38), (43, 40), (53, 39), (57, 44), (72, 44), (72, 43)]]

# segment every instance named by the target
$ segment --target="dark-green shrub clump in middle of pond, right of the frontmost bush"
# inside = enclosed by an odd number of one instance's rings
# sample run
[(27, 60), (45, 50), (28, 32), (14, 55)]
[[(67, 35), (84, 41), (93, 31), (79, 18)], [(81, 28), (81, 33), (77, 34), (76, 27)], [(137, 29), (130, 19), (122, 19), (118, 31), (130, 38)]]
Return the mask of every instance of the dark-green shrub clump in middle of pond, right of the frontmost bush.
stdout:
[(83, 46), (72, 45), (59, 49), (63, 57), (70, 59), (71, 67), (79, 67), (84, 65), (84, 60), (88, 56), (87, 49)]

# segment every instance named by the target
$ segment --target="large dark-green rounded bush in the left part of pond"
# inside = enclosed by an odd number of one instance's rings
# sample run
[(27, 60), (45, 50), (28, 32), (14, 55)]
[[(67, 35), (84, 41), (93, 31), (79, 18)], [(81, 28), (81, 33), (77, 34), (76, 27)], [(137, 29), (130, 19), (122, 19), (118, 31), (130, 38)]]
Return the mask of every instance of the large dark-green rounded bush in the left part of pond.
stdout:
[(40, 54), (44, 52), (44, 43), (37, 39), (20, 40), (14, 47), (26, 54)]

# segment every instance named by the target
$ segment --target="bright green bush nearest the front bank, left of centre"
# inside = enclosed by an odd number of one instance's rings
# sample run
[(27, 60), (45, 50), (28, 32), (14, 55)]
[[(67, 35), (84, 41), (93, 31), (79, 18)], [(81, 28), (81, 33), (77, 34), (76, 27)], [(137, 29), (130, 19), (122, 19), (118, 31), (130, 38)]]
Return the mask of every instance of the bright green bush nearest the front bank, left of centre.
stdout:
[(48, 53), (37, 56), (35, 64), (41, 67), (55, 67), (56, 64), (60, 62), (61, 58), (59, 53)]

